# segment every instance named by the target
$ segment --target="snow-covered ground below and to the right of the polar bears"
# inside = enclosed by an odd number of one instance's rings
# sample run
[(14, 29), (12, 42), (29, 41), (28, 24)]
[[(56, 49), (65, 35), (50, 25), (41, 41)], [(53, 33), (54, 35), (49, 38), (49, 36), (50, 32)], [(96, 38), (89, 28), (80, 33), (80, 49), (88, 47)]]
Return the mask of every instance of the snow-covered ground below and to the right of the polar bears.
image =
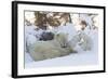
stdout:
[[(64, 30), (64, 29), (62, 29)], [(68, 31), (65, 29), (65, 31)], [(69, 30), (71, 31), (71, 29)], [(80, 66), (93, 65), (98, 63), (98, 32), (97, 30), (89, 31), (89, 36), (93, 39), (93, 49), (91, 51), (83, 51), (80, 47), (76, 47), (78, 53), (56, 57), (52, 60), (44, 60), (35, 62), (29, 53), (25, 53), (25, 68), (33, 67), (55, 67), (55, 66)]]

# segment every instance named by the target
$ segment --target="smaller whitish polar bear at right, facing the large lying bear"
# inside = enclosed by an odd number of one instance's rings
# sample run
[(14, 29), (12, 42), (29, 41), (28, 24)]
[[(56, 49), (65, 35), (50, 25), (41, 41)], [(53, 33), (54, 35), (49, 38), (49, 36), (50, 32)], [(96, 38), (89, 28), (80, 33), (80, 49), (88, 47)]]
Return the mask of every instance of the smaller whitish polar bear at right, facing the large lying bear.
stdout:
[(92, 38), (89, 37), (83, 31), (79, 31), (77, 35), (72, 37), (72, 39), (68, 42), (68, 47), (75, 49), (76, 45), (79, 45), (83, 51), (92, 50), (93, 41)]

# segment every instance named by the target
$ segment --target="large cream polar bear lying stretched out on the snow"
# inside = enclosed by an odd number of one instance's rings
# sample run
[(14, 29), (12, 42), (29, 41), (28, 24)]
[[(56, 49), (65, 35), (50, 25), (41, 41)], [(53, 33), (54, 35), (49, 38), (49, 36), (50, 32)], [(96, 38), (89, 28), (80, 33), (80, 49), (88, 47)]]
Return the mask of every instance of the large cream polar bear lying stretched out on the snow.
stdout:
[(55, 34), (53, 40), (37, 41), (29, 47), (30, 55), (35, 61), (42, 61), (65, 56), (73, 52), (70, 47), (67, 47), (67, 34)]

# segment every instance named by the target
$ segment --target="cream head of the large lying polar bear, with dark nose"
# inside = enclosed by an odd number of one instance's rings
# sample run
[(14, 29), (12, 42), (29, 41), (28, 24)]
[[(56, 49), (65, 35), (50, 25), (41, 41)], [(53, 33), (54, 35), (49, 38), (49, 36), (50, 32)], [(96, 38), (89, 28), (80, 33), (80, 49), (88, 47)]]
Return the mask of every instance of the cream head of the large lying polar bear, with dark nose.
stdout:
[(60, 44), (62, 48), (67, 47), (67, 41), (68, 41), (67, 38), (68, 35), (64, 32), (56, 34), (54, 37), (54, 39)]

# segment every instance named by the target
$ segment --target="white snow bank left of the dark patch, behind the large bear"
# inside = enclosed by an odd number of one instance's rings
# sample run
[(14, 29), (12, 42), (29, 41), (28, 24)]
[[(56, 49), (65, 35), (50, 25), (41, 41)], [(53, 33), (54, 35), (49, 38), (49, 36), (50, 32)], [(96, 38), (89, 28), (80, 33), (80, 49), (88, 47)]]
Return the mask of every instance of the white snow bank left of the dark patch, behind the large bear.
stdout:
[[(37, 26), (31, 25), (31, 26), (25, 26), (25, 45), (29, 47), (31, 44), (33, 44), (36, 41), (39, 40), (40, 35), (43, 32), (43, 30), (39, 29), (39, 30), (35, 30), (37, 28)], [(25, 47), (25, 51), (27, 51)]]

